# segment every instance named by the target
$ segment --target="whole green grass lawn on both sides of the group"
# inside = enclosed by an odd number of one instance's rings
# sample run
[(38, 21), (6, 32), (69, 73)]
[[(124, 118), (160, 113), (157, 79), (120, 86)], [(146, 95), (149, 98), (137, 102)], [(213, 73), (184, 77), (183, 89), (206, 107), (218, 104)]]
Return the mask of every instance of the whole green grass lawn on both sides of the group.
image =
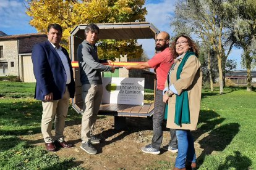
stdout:
[[(0, 87), (0, 169), (82, 169), (73, 158), (59, 158), (22, 140), (41, 132), (35, 84), (0, 81)], [(148, 94), (145, 98), (153, 99)], [(198, 169), (256, 169), (255, 102), (255, 89), (228, 87), (223, 95), (203, 90), (198, 129), (193, 132), (202, 148)], [(70, 108), (68, 119), (77, 116)]]

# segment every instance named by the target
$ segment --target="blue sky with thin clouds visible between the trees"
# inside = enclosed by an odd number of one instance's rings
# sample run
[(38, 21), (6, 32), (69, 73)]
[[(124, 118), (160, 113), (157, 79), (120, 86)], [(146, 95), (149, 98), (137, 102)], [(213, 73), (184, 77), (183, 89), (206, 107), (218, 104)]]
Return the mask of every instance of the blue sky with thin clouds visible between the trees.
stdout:
[[(160, 31), (171, 33), (169, 25), (169, 17), (173, 15), (175, 0), (146, 0), (145, 7), (148, 15), (146, 21)], [(25, 14), (25, 1), (22, 0), (0, 0), (0, 31), (11, 34), (36, 33), (36, 29), (29, 25), (30, 17)], [(148, 57), (151, 59), (154, 55), (155, 42), (153, 39), (140, 39)], [(237, 62), (237, 70), (241, 70), (241, 54), (239, 49), (233, 49), (229, 55), (229, 59), (234, 59)]]

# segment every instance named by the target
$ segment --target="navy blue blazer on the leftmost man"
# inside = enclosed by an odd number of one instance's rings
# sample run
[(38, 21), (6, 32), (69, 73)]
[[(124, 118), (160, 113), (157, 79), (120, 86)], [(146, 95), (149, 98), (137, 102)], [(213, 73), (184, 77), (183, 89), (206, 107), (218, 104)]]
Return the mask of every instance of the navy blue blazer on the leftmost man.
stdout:
[[(67, 85), (70, 98), (74, 98), (75, 81), (71, 60), (62, 47), (70, 68), (71, 82)], [(35, 44), (32, 51), (33, 71), (36, 78), (35, 99), (45, 100), (45, 95), (53, 92), (53, 100), (62, 99), (66, 91), (67, 76), (61, 58), (49, 41)]]

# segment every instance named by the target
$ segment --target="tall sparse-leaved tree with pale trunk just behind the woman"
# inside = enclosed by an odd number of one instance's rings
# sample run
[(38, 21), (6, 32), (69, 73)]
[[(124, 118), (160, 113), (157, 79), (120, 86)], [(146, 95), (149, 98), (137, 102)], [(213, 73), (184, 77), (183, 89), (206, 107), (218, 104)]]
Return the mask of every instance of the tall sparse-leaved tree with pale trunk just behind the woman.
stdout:
[[(220, 94), (223, 94), (223, 65), (226, 63), (232, 44), (228, 44), (229, 52), (225, 54), (223, 39), (227, 37), (226, 10), (224, 0), (179, 0), (176, 3), (175, 16), (171, 25), (175, 31), (189, 30), (210, 44), (218, 59)], [(210, 62), (210, 60), (209, 60)], [(223, 64), (224, 63), (224, 64)], [(211, 63), (208, 65), (209, 70)]]

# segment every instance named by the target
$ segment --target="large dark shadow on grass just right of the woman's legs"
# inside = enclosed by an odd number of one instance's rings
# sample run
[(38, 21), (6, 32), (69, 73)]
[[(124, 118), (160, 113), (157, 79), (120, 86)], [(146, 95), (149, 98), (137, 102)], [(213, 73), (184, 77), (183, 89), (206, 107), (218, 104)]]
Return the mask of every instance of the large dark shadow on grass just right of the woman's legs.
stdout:
[[(197, 163), (203, 164), (206, 155), (217, 151), (221, 152), (231, 143), (239, 132), (238, 123), (222, 124), (225, 118), (212, 110), (201, 110), (198, 119), (197, 131), (192, 131), (195, 140), (198, 140), (203, 152), (197, 158)], [(202, 139), (200, 139), (202, 138)]]

